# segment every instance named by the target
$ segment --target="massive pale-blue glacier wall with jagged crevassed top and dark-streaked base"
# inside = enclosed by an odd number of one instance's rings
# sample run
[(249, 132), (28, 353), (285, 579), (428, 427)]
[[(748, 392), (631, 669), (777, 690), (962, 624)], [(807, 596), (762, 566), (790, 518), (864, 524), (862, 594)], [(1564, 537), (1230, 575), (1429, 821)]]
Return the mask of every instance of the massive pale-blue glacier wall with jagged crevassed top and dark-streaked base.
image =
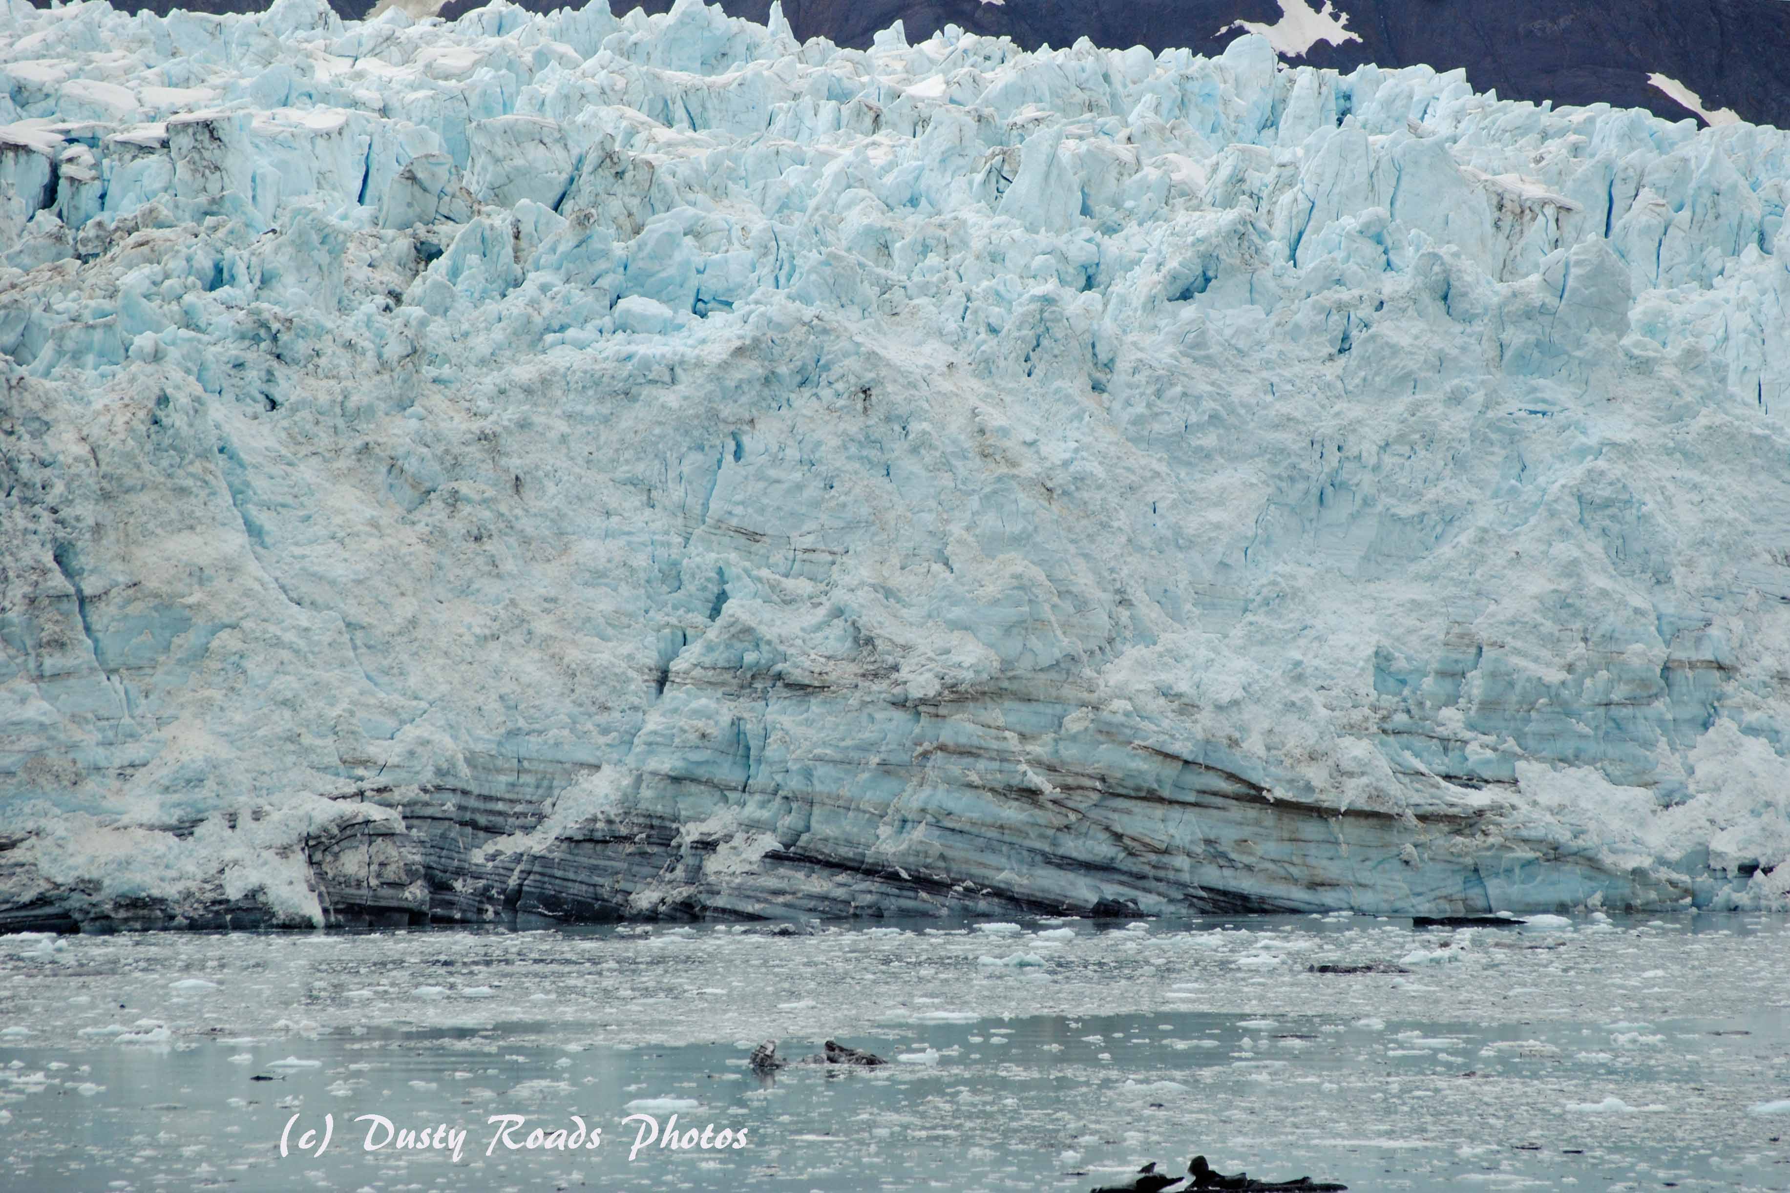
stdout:
[(1790, 900), (1785, 131), (0, 4), (0, 926)]

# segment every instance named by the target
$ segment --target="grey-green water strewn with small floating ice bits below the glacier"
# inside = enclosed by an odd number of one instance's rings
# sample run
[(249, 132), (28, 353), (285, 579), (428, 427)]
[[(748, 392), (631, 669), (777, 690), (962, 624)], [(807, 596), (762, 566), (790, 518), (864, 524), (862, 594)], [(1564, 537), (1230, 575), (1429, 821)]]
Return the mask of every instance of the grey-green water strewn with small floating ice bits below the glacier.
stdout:
[[(1786, 946), (1688, 914), (14, 935), (0, 1184), (974, 1193), (1203, 1152), (1785, 1189)], [(888, 1064), (761, 1077), (770, 1037)]]

